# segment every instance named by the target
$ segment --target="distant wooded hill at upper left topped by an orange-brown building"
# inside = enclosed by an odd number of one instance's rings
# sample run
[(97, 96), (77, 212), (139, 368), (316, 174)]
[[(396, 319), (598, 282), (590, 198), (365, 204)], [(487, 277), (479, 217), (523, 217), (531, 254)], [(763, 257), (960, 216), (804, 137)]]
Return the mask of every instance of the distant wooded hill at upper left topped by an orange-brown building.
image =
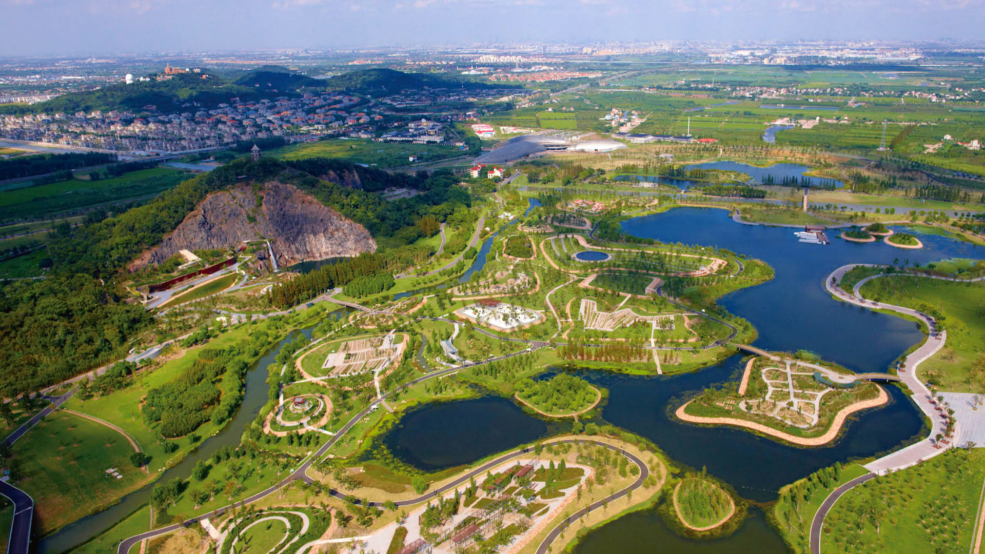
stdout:
[[(222, 77), (209, 75), (203, 79), (198, 73), (183, 73), (173, 76), (166, 81), (138, 81), (132, 85), (120, 83), (109, 85), (95, 91), (69, 93), (56, 99), (31, 105), (0, 106), (0, 113), (55, 113), (76, 111), (103, 111), (124, 109), (139, 113), (145, 105), (154, 105), (162, 112), (186, 111), (190, 106), (201, 105), (211, 108), (219, 104), (229, 103), (231, 98), (242, 101), (254, 101), (275, 96), (290, 95), (300, 87), (312, 86), (311, 82), (321, 83), (300, 75), (271, 73), (261, 87), (253, 87), (253, 80), (266, 73), (251, 73), (240, 78), (250, 85), (237, 84)], [(251, 78), (251, 76), (253, 76)], [(279, 85), (291, 88), (268, 87), (266, 83), (277, 82)]]

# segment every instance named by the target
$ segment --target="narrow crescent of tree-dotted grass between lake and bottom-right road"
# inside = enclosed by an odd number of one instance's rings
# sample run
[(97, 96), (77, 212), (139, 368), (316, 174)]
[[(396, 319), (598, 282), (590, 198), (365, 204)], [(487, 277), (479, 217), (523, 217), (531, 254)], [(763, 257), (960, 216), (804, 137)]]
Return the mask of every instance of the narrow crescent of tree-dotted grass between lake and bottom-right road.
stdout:
[(824, 499), (834, 489), (866, 473), (866, 468), (859, 464), (844, 467), (839, 464), (825, 467), (780, 489), (779, 498), (769, 512), (769, 519), (794, 554), (810, 552), (811, 521)]

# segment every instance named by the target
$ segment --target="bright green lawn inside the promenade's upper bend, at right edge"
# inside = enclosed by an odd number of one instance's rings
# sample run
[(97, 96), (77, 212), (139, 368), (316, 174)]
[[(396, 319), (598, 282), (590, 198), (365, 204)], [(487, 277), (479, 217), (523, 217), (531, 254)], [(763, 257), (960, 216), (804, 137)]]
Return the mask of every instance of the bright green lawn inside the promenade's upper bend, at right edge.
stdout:
[(891, 276), (873, 279), (862, 296), (944, 315), (948, 342), (920, 365), (921, 379), (942, 390), (985, 392), (985, 284), (954, 283), (921, 277)]

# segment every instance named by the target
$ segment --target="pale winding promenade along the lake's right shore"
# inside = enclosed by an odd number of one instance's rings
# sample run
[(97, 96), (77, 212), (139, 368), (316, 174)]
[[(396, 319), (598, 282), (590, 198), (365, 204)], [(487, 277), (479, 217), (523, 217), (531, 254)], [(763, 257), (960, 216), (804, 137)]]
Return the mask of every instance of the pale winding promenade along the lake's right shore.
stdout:
[(827, 292), (830, 293), (835, 298), (837, 298), (838, 300), (841, 300), (848, 304), (853, 304), (855, 306), (861, 306), (863, 308), (869, 308), (869, 309), (888, 310), (891, 312), (903, 313), (905, 315), (916, 317), (917, 319), (921, 320), (924, 324), (926, 324), (927, 328), (931, 330), (931, 335), (927, 337), (927, 340), (924, 341), (924, 343), (920, 345), (919, 348), (917, 348), (911, 354), (906, 356), (906, 358), (903, 360), (904, 370), (899, 373), (900, 381), (906, 383), (909, 389), (913, 391), (913, 394), (910, 396), (910, 398), (913, 399), (917, 407), (919, 407), (920, 410), (930, 419), (931, 430), (930, 433), (927, 435), (927, 438), (925, 438), (924, 440), (916, 444), (910, 445), (909, 447), (906, 447), (902, 450), (896, 450), (892, 453), (886, 454), (885, 456), (877, 460), (865, 464), (864, 467), (868, 469), (870, 473), (852, 479), (851, 481), (845, 483), (844, 485), (841, 485), (840, 487), (832, 491), (831, 494), (828, 495), (826, 499), (824, 499), (824, 502), (821, 503), (821, 508), (818, 510), (817, 514), (815, 514), (814, 519), (811, 521), (810, 543), (811, 543), (812, 554), (821, 554), (821, 529), (824, 524), (824, 517), (827, 516), (827, 513), (831, 510), (831, 507), (834, 506), (834, 503), (837, 502), (837, 500), (846, 492), (848, 492), (852, 487), (855, 487), (856, 485), (864, 483), (870, 479), (873, 479), (877, 475), (886, 475), (886, 473), (890, 471), (897, 471), (899, 469), (904, 469), (906, 467), (916, 465), (917, 463), (920, 463), (921, 461), (934, 457), (935, 455), (944, 451), (944, 449), (935, 448), (934, 443), (931, 440), (931, 437), (934, 437), (938, 433), (945, 432), (944, 421), (942, 420), (940, 414), (937, 413), (937, 411), (935, 410), (934, 404), (932, 404), (930, 401), (931, 400), (930, 389), (928, 389), (927, 385), (924, 384), (922, 381), (920, 381), (919, 378), (917, 378), (917, 367), (923, 362), (925, 362), (927, 359), (929, 359), (931, 356), (936, 354), (939, 350), (941, 350), (941, 348), (944, 347), (945, 342), (948, 340), (948, 331), (947, 330), (937, 331), (935, 334), (935, 329), (937, 328), (937, 321), (935, 321), (933, 317), (931, 317), (926, 313), (918, 312), (916, 310), (911, 310), (909, 308), (895, 306), (892, 304), (866, 300), (865, 298), (862, 297), (862, 294), (859, 292), (862, 288), (862, 285), (868, 283), (873, 279), (878, 279), (880, 277), (886, 277), (890, 275), (924, 277), (926, 279), (939, 279), (942, 281), (956, 281), (956, 282), (985, 280), (985, 277), (979, 277), (977, 279), (968, 280), (968, 279), (954, 279), (952, 277), (938, 277), (935, 275), (920, 275), (917, 273), (881, 273), (860, 280), (858, 283), (855, 284), (855, 287), (852, 289), (852, 293), (849, 294), (846, 293), (844, 290), (842, 290), (838, 286), (838, 284), (841, 283), (846, 273), (848, 273), (850, 270), (856, 267), (886, 267), (886, 266), (871, 264), (871, 263), (852, 263), (848, 265), (843, 265), (832, 271), (831, 274), (824, 279), (824, 288), (827, 290)]

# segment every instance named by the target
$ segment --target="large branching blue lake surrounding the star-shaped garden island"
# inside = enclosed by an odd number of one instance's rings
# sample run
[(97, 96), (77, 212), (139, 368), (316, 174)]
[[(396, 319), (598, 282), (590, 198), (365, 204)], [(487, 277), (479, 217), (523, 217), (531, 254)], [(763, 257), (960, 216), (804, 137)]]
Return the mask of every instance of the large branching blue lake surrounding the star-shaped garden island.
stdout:
[[(831, 299), (822, 283), (832, 270), (852, 262), (985, 258), (985, 247), (923, 234), (919, 228), (906, 229), (924, 242), (919, 250), (883, 242), (846, 242), (833, 236), (827, 245), (798, 242), (794, 229), (739, 224), (728, 217), (728, 211), (713, 208), (677, 208), (625, 221), (623, 228), (637, 237), (714, 245), (769, 263), (775, 270), (772, 281), (732, 293), (720, 304), (755, 325), (755, 345), (760, 348), (806, 349), (858, 372), (885, 372), (923, 335), (916, 323)], [(891, 386), (887, 387), (891, 401), (886, 406), (863, 413), (848, 424), (838, 441), (822, 448), (788, 447), (734, 428), (690, 426), (671, 415), (685, 395), (737, 380), (741, 358), (736, 355), (671, 377), (626, 377), (597, 371), (579, 375), (610, 390), (602, 419), (647, 437), (676, 461), (706, 466), (754, 502), (775, 499), (781, 486), (835, 461), (895, 450), (922, 430), (923, 418), (917, 408)], [(494, 448), (487, 443), (491, 430), (497, 434)], [(512, 443), (502, 434), (510, 435)], [(399, 458), (434, 470), (469, 463), (550, 434), (546, 424), (523, 414), (511, 402), (479, 398), (425, 405), (405, 416), (385, 440)], [(644, 551), (652, 550), (647, 545), (653, 544), (660, 544), (662, 552), (675, 553), (748, 552), (753, 548), (763, 553), (786, 552), (758, 510), (752, 510), (735, 533), (714, 541), (680, 537), (655, 512), (634, 514), (591, 533), (576, 552)]]

